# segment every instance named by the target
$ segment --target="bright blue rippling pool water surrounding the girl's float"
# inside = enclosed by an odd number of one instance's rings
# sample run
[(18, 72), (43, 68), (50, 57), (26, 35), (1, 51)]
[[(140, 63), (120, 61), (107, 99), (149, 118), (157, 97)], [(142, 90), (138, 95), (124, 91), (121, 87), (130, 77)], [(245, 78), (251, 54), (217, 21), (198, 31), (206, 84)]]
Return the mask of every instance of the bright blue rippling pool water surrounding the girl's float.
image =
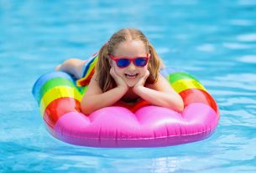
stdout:
[[(0, 172), (256, 172), (256, 1), (0, 0)], [(41, 74), (85, 59), (119, 28), (196, 76), (221, 120), (207, 140), (164, 148), (68, 145), (31, 94)]]

